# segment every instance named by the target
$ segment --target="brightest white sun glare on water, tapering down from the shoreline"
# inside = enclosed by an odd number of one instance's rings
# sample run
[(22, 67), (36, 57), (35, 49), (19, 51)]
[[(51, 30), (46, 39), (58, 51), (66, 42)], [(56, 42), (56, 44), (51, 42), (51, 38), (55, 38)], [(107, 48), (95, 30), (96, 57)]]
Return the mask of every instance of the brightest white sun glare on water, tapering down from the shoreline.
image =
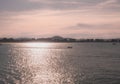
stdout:
[(39, 64), (45, 64), (46, 56), (49, 53), (48, 49), (52, 47), (51, 43), (25, 43), (24, 47), (27, 50), (27, 55), (31, 65), (38, 66)]

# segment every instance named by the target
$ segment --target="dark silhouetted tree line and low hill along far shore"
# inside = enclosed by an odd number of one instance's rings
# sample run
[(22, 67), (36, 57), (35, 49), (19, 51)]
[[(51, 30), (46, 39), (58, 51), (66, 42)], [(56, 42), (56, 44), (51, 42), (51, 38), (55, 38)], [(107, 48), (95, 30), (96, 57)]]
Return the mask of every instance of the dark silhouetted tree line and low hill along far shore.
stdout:
[(54, 36), (49, 38), (0, 38), (0, 42), (120, 42), (120, 39), (75, 39)]

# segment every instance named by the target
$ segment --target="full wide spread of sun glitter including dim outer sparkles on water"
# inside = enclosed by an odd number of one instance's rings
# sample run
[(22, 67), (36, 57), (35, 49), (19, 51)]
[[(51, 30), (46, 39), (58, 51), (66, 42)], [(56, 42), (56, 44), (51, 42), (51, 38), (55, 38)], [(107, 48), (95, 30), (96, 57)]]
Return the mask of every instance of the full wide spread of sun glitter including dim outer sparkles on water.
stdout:
[(11, 84), (79, 84), (85, 79), (83, 59), (76, 50), (61, 46), (66, 44), (10, 44), (4, 53), (4, 79)]

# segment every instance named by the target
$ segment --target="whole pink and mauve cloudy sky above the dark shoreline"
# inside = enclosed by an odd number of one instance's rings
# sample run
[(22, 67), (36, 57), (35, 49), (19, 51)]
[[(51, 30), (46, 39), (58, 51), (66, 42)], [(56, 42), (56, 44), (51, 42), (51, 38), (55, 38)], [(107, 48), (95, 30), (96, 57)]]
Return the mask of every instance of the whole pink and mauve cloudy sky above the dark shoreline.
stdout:
[(120, 38), (120, 0), (0, 0), (0, 37)]

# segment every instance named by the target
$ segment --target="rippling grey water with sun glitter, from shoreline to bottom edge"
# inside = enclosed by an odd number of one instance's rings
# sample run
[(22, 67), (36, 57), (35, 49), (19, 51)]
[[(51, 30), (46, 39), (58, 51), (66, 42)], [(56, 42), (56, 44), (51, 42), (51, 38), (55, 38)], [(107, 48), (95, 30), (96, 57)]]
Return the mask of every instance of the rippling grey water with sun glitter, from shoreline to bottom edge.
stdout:
[(120, 84), (120, 44), (3, 44), (0, 84)]

